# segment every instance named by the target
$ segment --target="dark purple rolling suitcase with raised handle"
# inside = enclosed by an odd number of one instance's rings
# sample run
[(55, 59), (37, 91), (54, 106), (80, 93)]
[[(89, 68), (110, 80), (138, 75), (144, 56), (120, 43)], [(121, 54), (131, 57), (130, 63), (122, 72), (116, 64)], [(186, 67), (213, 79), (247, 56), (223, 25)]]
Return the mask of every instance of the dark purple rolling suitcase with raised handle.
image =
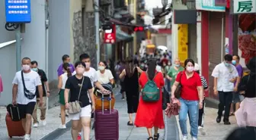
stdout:
[[(102, 95), (102, 104), (104, 104), (104, 95)], [(96, 110), (94, 114), (94, 132), (96, 140), (118, 140), (119, 139), (119, 120), (118, 120), (118, 110), (111, 108), (111, 98), (110, 109), (104, 109), (102, 105), (102, 110)]]

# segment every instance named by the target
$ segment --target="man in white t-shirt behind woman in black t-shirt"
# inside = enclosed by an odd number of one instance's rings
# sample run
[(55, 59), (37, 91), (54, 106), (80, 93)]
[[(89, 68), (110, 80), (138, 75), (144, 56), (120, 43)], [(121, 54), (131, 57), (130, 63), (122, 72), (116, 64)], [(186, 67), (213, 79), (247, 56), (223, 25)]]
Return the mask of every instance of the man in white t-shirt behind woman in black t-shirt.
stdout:
[[(91, 85), (94, 87), (96, 86), (98, 89), (101, 90), (101, 92), (108, 92), (106, 89), (104, 89), (103, 86), (101, 86), (101, 83), (98, 82), (98, 77), (97, 77), (97, 74), (96, 74), (96, 70), (91, 67), (91, 58), (88, 54), (81, 54), (79, 56), (79, 60), (84, 62), (86, 67), (85, 67), (85, 73), (84, 73), (84, 76), (88, 76), (90, 79), (91, 79)], [(73, 73), (73, 75), (75, 75), (75, 71)], [(79, 129), (79, 134), (78, 134), (78, 140), (81, 140), (81, 132), (82, 132), (82, 126), (80, 127)]]

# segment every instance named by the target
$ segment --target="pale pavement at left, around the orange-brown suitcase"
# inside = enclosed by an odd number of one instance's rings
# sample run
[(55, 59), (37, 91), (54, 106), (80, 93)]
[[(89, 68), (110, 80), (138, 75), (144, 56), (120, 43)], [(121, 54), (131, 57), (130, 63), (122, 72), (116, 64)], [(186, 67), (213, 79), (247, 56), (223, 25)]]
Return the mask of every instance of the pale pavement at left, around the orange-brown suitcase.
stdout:
[[(31, 140), (39, 140), (40, 138), (43, 138), (43, 136), (48, 135), (50, 132), (53, 132), (56, 130), (60, 125), (60, 118), (59, 118), (59, 112), (60, 108), (53, 107), (50, 110), (48, 110), (46, 114), (46, 126), (40, 126), (38, 128), (32, 128), (31, 133)], [(40, 117), (40, 110), (37, 111), (37, 117)], [(6, 115), (6, 108), (0, 107), (0, 139), (1, 140), (8, 140), (10, 139), (8, 137), (8, 131), (5, 123), (5, 115)], [(40, 120), (40, 119), (39, 119)], [(66, 121), (69, 121), (69, 118), (66, 118)], [(13, 137), (12, 139), (21, 140), (22, 137)]]

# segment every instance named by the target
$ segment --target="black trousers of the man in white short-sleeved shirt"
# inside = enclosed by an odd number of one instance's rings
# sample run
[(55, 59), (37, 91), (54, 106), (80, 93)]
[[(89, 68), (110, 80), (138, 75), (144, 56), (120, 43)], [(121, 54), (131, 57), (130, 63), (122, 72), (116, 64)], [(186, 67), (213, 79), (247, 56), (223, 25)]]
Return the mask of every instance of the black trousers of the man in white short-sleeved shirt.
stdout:
[(229, 121), (230, 106), (232, 103), (233, 92), (219, 92), (219, 110), (218, 116), (222, 117), (222, 112), (225, 109), (224, 120)]

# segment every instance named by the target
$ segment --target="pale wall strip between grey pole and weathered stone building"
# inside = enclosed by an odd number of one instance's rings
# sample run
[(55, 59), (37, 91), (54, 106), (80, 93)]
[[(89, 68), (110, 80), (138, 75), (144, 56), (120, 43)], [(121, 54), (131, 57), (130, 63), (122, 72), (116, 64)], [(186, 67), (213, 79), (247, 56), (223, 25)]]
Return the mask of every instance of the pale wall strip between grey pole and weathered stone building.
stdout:
[(49, 79), (58, 79), (57, 69), (62, 63), (63, 54), (70, 53), (70, 3), (63, 0), (49, 1)]

